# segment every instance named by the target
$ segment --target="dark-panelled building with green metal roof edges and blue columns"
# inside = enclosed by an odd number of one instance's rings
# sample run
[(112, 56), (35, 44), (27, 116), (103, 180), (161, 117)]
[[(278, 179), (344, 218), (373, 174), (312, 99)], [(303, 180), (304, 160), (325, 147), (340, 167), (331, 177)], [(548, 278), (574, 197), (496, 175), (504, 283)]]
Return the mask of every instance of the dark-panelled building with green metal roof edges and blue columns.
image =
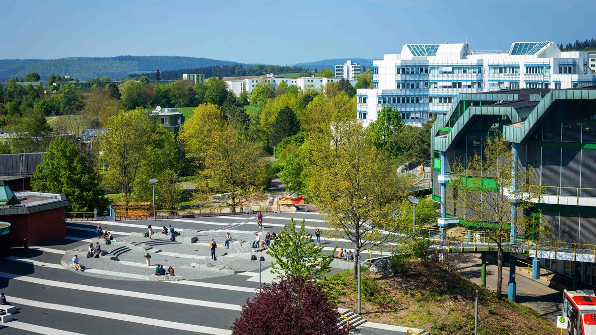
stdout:
[(568, 278), (568, 287), (596, 286), (595, 120), (596, 86), (460, 93), (431, 131), (439, 227), (474, 226), (465, 208), (454, 203), (457, 190), (449, 174), (454, 164), (465, 168), (472, 156), (482, 156), (486, 138), (499, 132), (511, 143), (512, 171), (530, 171), (532, 181), (545, 187), (532, 208), (516, 214), (532, 215), (532, 229), (521, 232), (513, 222), (511, 241), (536, 243), (536, 250), (530, 249), (533, 266)]

